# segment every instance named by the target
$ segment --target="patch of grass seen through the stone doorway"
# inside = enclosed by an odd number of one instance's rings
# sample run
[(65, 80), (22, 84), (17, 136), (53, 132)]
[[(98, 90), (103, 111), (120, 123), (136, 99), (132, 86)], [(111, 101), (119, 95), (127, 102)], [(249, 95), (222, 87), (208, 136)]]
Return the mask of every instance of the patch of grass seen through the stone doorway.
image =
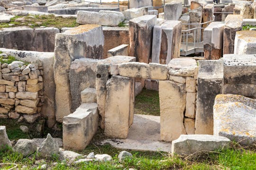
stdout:
[(158, 92), (142, 89), (135, 98), (134, 113), (160, 116)]

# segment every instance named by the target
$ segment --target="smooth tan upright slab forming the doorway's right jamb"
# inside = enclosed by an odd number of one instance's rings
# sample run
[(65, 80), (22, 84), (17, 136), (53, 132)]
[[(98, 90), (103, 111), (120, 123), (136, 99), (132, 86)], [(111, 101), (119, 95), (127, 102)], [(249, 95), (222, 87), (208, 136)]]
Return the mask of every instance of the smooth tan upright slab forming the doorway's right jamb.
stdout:
[[(173, 141), (186, 134), (183, 125), (186, 87), (170, 80), (159, 80), (161, 140)], [(170, 126), (172, 125), (172, 126)]]

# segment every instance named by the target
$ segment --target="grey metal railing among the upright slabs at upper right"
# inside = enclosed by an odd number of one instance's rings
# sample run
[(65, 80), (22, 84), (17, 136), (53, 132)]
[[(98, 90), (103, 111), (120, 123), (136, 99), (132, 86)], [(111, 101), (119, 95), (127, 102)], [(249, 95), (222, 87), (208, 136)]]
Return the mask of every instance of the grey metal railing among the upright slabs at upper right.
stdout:
[[(182, 24), (183, 26), (187, 25), (187, 30), (182, 30), (183, 40), (181, 47), (181, 55), (187, 56), (195, 52), (203, 52), (203, 41), (201, 41), (201, 33), (202, 30), (206, 27), (202, 27), (202, 25), (209, 25), (214, 21), (214, 18), (210, 21), (198, 24)], [(190, 26), (197, 26), (195, 28), (190, 28)], [(193, 42), (188, 42), (189, 34), (193, 32)], [(186, 38), (185, 38), (185, 36)]]

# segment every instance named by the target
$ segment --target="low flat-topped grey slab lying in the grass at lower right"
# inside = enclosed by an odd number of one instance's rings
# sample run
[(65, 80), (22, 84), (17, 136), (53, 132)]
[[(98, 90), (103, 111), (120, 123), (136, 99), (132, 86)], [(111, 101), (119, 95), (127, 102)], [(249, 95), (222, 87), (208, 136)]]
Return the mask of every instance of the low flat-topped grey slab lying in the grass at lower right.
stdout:
[(192, 154), (200, 151), (214, 151), (230, 144), (230, 140), (223, 136), (212, 135), (181, 135), (172, 142), (172, 153)]

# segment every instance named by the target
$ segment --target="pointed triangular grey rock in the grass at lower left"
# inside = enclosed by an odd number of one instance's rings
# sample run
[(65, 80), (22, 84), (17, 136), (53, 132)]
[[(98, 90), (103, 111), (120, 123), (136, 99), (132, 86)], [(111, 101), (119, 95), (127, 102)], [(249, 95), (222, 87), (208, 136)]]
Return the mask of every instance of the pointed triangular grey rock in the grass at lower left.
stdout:
[(48, 134), (46, 140), (39, 146), (37, 155), (43, 158), (51, 158), (53, 154), (59, 155), (59, 145), (54, 138)]

